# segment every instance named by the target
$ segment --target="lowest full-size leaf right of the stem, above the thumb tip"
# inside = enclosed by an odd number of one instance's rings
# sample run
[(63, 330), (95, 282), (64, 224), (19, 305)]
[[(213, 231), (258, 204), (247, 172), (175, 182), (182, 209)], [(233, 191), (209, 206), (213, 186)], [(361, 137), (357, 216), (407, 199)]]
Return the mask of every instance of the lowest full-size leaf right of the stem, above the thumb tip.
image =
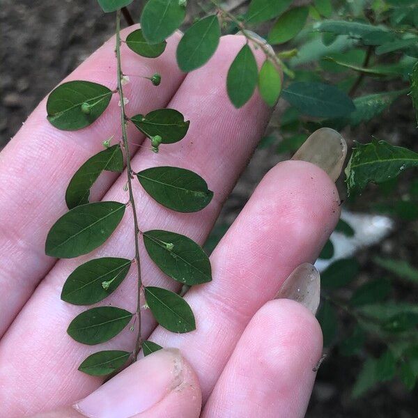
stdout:
[(196, 329), (192, 309), (177, 293), (147, 286), (145, 299), (157, 323), (167, 330), (183, 334)]

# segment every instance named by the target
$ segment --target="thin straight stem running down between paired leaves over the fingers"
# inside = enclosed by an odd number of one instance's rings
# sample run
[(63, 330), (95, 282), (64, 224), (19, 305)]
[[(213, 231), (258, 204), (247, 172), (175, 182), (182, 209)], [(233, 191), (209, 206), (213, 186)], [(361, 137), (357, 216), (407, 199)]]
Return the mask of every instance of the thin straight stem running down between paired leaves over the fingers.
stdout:
[(135, 342), (134, 352), (133, 352), (133, 361), (137, 360), (139, 350), (142, 346), (142, 337), (141, 337), (141, 263), (139, 261), (139, 225), (137, 218), (137, 210), (135, 208), (134, 194), (132, 192), (132, 169), (130, 165), (130, 152), (129, 146), (127, 144), (127, 132), (126, 132), (126, 121), (127, 117), (125, 115), (125, 103), (123, 102), (123, 88), (122, 88), (122, 77), (123, 72), (121, 68), (121, 10), (116, 12), (116, 60), (118, 65), (118, 93), (119, 100), (121, 100), (121, 125), (122, 125), (122, 139), (123, 139), (123, 148), (125, 148), (126, 154), (126, 170), (127, 170), (127, 188), (129, 190), (129, 201), (130, 206), (132, 207), (132, 213), (134, 216), (134, 234), (135, 234), (135, 260), (137, 261), (137, 270), (138, 270), (138, 293), (137, 293), (137, 320), (138, 320), (138, 334), (137, 341)]

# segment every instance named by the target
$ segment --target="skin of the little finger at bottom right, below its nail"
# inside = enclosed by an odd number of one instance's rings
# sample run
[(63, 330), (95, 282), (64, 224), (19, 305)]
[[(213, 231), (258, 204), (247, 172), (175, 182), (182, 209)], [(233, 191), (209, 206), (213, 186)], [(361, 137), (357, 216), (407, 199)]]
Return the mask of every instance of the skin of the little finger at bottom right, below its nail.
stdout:
[(304, 417), (321, 350), (311, 311), (293, 300), (268, 302), (245, 328), (202, 417)]

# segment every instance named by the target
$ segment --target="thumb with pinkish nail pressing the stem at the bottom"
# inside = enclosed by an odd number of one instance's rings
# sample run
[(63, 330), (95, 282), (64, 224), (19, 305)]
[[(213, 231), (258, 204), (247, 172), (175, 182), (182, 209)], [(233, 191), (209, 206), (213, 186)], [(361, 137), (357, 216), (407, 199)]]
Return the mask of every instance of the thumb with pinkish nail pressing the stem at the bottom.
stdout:
[(72, 407), (33, 418), (198, 418), (199, 381), (179, 350), (160, 350), (127, 367)]

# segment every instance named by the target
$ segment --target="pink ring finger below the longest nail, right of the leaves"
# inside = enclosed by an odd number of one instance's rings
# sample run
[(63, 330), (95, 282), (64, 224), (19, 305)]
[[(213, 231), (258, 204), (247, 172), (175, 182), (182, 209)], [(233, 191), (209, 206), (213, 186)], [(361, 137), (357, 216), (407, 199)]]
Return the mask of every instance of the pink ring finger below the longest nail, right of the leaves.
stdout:
[(336, 187), (313, 164), (283, 162), (263, 178), (212, 253), (213, 280), (185, 295), (196, 331), (177, 335), (158, 327), (150, 336), (183, 350), (199, 376), (203, 401), (250, 318), (297, 265), (316, 260), (338, 218)]

